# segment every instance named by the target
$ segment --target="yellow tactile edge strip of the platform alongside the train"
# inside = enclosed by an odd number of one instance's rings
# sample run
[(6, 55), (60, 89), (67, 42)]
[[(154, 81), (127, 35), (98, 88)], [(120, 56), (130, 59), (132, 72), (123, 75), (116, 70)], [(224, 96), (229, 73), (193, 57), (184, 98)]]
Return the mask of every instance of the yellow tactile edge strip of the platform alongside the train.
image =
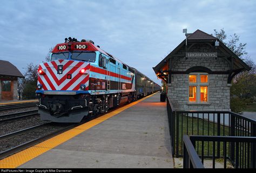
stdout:
[(140, 99), (136, 102), (133, 102), (129, 105), (120, 107), (117, 110), (114, 110), (110, 113), (105, 114), (104, 116), (93, 119), (89, 122), (86, 122), (85, 124), (77, 126), (76, 128), (70, 129), (69, 131), (66, 131), (62, 134), (54, 136), (51, 139), (45, 140), (44, 142), (41, 142), (41, 143), (38, 143), (37, 145), (35, 145), (33, 147), (30, 147), (28, 149), (25, 149), (25, 150), (19, 152), (19, 153), (16, 153), (14, 155), (6, 157), (3, 160), (0, 160), (0, 168), (17, 168), (19, 165), (22, 165), (22, 164), (32, 160), (33, 158), (47, 152), (48, 150), (60, 145), (61, 143), (68, 141), (69, 139), (75, 137), (76, 135), (86, 131), (87, 129), (100, 124), (100, 122), (103, 122), (103, 121), (115, 116), (116, 114), (128, 109), (129, 107), (131, 107), (133, 105), (136, 105), (139, 102), (142, 102), (143, 100), (145, 100), (153, 95), (142, 98), (142, 99)]

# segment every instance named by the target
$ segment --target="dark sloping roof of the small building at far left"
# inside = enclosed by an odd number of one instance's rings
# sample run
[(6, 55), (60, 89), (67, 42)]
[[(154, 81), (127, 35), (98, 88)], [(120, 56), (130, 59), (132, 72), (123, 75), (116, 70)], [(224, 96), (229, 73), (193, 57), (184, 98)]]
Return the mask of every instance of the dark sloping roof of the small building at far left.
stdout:
[(4, 60), (0, 60), (0, 75), (24, 77), (14, 64)]

